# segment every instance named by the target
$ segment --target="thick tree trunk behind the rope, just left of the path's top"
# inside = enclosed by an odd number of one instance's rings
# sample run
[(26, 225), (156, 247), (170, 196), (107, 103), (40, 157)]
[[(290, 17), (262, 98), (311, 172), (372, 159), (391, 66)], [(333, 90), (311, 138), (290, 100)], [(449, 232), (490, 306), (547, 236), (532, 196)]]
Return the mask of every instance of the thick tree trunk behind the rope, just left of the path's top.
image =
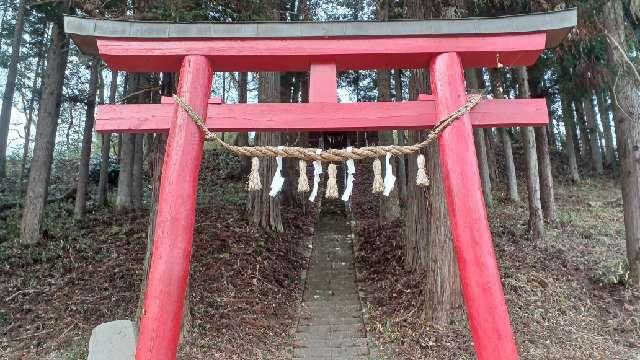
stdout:
[[(259, 74), (259, 102), (278, 102), (280, 99), (280, 75), (266, 72)], [(256, 134), (256, 145), (280, 145), (280, 133), (263, 132)], [(269, 196), (271, 180), (276, 171), (275, 160), (264, 158), (260, 161), (260, 179), (262, 190), (249, 194), (247, 203), (250, 220), (264, 229), (282, 232), (282, 216), (280, 214), (280, 194)]]

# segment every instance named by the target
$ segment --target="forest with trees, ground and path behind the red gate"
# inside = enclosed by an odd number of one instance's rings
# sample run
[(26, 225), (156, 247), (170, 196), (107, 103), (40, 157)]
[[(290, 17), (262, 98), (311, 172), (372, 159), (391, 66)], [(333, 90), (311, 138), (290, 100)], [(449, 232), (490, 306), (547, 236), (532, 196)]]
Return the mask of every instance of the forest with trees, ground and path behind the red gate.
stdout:
[[(480, 185), (520, 357), (639, 359), (637, 0), (0, 0), (0, 358), (100, 359), (98, 325), (130, 319), (135, 328), (144, 316), (167, 134), (96, 132), (96, 110), (160, 104), (179, 77), (110, 69), (80, 51), (65, 15), (386, 22), (571, 8), (577, 26), (533, 66), (498, 58), (495, 68), (465, 69), (469, 93), (544, 98), (550, 118), (474, 128)], [(338, 101), (417, 100), (433, 91), (428, 67), (340, 71)], [(309, 82), (309, 72), (216, 72), (211, 97), (307, 103)], [(329, 149), (427, 134), (217, 136)], [(388, 196), (371, 193), (375, 169), (356, 161), (348, 201), (325, 196), (325, 172), (310, 202), (298, 160), (284, 159), (284, 186), (270, 196), (276, 161), (252, 169), (251, 158), (205, 143), (178, 358), (475, 358), (437, 144), (422, 153), (428, 187), (416, 184), (416, 155), (394, 156)], [(307, 165), (300, 172), (313, 182)], [(247, 188), (252, 170), (257, 191)], [(342, 192), (349, 170), (337, 171)], [(325, 328), (331, 341), (313, 335)]]

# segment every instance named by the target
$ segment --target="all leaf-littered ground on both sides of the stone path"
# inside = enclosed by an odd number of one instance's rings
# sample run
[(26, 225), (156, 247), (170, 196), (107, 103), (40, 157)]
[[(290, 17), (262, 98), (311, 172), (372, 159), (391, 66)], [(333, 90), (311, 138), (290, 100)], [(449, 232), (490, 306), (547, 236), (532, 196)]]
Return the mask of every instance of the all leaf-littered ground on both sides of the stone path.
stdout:
[[(313, 214), (287, 209), (281, 235), (254, 229), (245, 220), (242, 183), (216, 173), (229, 161), (209, 159), (203, 170), (201, 188), (209, 192), (199, 198), (191, 327), (181, 358), (286, 358)], [(401, 224), (371, 220), (377, 201), (365, 165), (353, 214), (370, 333), (390, 359), (473, 359), (462, 313), (440, 327), (421, 320), (421, 274), (402, 269)], [(544, 241), (527, 238), (524, 203), (499, 200), (490, 213), (522, 358), (636, 360), (640, 294), (624, 286), (618, 187), (600, 179), (559, 183), (556, 191), (559, 220)], [(47, 211), (44, 245), (20, 247), (11, 240), (18, 213), (0, 226), (0, 358), (84, 359), (93, 326), (135, 316), (147, 214), (104, 210), (76, 225), (68, 220), (71, 204), (61, 203)]]

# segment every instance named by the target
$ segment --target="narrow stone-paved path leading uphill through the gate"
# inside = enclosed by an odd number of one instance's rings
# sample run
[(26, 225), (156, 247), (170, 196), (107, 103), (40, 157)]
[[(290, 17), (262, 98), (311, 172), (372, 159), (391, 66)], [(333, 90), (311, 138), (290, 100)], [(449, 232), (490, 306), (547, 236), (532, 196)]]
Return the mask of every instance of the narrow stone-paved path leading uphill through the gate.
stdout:
[(344, 215), (323, 213), (316, 225), (295, 338), (294, 359), (370, 358)]

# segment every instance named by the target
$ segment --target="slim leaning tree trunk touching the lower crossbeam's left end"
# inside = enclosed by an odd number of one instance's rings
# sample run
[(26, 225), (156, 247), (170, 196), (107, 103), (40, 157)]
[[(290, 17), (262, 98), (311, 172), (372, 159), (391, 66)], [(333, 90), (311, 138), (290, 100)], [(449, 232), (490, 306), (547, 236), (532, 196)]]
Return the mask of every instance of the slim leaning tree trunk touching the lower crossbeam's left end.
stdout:
[(91, 141), (93, 140), (93, 123), (95, 121), (96, 95), (98, 92), (98, 73), (100, 59), (93, 59), (89, 76), (89, 93), (87, 94), (87, 111), (85, 113), (84, 131), (82, 133), (82, 150), (80, 152), (80, 169), (76, 188), (76, 203), (73, 209), (75, 220), (84, 220), (87, 214), (87, 182), (89, 180), (89, 158), (91, 157)]

